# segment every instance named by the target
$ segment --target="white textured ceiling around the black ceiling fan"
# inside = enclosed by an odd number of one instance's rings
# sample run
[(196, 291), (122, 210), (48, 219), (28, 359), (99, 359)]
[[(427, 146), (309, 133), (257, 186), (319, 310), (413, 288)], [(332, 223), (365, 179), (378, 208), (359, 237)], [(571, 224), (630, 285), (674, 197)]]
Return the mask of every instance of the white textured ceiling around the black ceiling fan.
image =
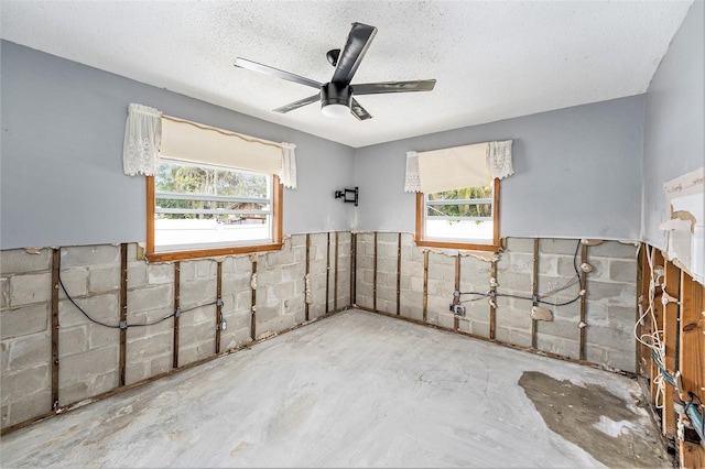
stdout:
[[(8, 41), (354, 148), (644, 92), (692, 1), (9, 1)], [(378, 33), (355, 83), (436, 78), (360, 96), (372, 119), (236, 68), (245, 57), (326, 83), (350, 23)], [(315, 91), (314, 91), (315, 92)], [(149, 105), (149, 103), (145, 103)]]

